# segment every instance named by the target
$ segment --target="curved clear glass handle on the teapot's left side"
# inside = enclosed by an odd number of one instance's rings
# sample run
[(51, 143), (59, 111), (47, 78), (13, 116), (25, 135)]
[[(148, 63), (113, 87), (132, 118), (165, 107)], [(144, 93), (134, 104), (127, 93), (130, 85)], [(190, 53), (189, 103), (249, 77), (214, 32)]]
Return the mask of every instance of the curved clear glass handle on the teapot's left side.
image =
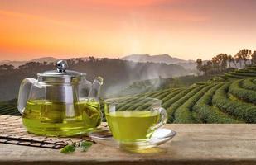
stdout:
[(29, 97), (29, 94), (31, 92), (32, 85), (37, 82), (35, 78), (25, 78), (22, 80), (19, 95), (17, 98), (17, 110), (23, 114), (24, 109), (27, 105), (27, 99)]

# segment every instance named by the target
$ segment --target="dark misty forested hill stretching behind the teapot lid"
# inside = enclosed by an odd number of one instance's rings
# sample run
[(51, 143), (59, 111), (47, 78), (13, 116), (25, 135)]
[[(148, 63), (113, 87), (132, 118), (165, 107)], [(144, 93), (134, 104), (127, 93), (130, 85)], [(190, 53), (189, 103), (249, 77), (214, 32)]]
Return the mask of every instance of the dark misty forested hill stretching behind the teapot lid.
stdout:
[[(87, 79), (92, 81), (96, 76), (104, 78), (103, 97), (127, 87), (134, 81), (152, 78), (171, 78), (186, 75), (189, 72), (176, 64), (135, 63), (120, 59), (67, 59), (69, 69), (87, 73)], [(2, 68), (0, 70), (0, 101), (17, 97), (23, 78), (36, 78), (36, 73), (56, 69), (52, 63), (30, 62), (19, 68)]]

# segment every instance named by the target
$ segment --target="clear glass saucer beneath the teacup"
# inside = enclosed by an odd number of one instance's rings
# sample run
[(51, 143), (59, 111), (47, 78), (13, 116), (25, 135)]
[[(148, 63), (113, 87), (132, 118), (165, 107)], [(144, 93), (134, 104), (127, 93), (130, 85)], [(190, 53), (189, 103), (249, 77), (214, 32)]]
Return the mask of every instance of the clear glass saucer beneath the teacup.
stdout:
[(136, 151), (141, 149), (153, 148), (166, 143), (172, 139), (176, 132), (170, 129), (158, 129), (154, 131), (150, 139), (140, 139), (135, 142), (118, 142), (115, 140), (108, 128), (96, 129), (89, 132), (89, 137), (98, 144), (104, 144), (111, 147), (118, 147), (128, 151)]

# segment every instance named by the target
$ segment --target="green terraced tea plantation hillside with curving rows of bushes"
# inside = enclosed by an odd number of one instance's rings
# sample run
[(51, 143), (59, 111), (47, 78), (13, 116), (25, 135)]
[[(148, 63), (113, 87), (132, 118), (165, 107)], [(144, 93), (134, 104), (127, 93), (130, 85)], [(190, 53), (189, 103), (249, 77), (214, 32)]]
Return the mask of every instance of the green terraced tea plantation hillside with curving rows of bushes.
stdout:
[[(189, 87), (170, 87), (133, 97), (161, 99), (168, 123), (256, 123), (256, 66)], [(126, 107), (134, 103), (135, 99)]]

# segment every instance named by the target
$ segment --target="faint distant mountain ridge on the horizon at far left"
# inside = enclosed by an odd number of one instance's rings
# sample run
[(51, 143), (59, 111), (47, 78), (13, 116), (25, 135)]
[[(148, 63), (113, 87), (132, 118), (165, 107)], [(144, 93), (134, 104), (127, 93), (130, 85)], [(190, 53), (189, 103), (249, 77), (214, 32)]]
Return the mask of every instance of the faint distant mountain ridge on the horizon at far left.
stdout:
[(0, 65), (2, 64), (11, 64), (14, 66), (14, 68), (18, 68), (19, 66), (21, 66), (22, 64), (26, 64), (28, 62), (38, 62), (38, 63), (54, 63), (56, 62), (58, 59), (53, 58), (53, 57), (43, 57), (43, 58), (39, 58), (39, 59), (31, 59), (29, 61), (11, 61), (11, 60), (3, 60), (0, 61)]

